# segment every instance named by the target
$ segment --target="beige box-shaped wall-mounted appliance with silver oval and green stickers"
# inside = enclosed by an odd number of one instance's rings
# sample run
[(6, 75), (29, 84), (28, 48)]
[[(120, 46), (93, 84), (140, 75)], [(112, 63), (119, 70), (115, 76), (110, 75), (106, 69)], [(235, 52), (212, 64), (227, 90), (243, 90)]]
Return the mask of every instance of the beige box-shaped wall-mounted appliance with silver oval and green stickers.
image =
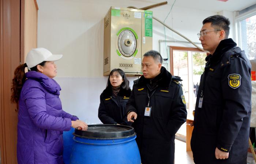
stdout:
[(142, 56), (152, 49), (152, 11), (111, 7), (104, 18), (103, 75), (114, 68), (141, 75)]

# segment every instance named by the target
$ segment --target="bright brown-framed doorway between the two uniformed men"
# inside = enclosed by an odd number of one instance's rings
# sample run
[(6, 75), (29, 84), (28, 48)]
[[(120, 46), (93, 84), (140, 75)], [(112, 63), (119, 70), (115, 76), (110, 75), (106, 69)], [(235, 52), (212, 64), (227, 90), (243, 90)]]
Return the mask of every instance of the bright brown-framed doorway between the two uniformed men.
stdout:
[[(170, 46), (170, 72), (174, 76), (181, 77), (183, 95), (186, 100), (188, 112), (187, 119), (193, 120), (197, 91), (200, 77), (205, 67), (206, 52), (197, 48), (172, 47)], [(186, 123), (176, 133), (182, 141), (186, 140)]]

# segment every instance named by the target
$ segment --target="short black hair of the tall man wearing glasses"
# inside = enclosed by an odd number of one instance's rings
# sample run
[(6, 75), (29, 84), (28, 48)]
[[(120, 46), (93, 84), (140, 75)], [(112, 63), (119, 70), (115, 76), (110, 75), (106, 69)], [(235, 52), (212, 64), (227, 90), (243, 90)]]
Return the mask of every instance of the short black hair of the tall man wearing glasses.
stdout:
[(228, 38), (230, 21), (225, 16), (222, 16), (222, 15), (209, 16), (203, 20), (203, 24), (205, 23), (211, 23), (212, 27), (223, 29), (225, 31), (225, 39)]

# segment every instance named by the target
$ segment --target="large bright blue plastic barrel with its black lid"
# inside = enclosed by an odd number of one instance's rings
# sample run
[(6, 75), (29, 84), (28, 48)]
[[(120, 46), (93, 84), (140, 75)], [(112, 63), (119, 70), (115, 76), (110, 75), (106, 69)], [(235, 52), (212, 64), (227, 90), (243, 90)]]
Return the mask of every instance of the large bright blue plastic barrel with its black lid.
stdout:
[(141, 164), (134, 129), (125, 125), (89, 125), (75, 129), (71, 164)]

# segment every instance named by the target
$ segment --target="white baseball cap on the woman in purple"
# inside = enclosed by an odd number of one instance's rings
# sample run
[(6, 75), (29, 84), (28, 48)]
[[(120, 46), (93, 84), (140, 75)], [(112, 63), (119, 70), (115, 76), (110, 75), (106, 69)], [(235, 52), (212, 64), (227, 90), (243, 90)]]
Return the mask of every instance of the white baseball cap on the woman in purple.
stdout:
[(57, 61), (60, 60), (62, 56), (63, 55), (52, 55), (52, 53), (45, 48), (33, 48), (27, 53), (26, 64), (30, 70), (30, 68), (35, 67), (43, 61)]

